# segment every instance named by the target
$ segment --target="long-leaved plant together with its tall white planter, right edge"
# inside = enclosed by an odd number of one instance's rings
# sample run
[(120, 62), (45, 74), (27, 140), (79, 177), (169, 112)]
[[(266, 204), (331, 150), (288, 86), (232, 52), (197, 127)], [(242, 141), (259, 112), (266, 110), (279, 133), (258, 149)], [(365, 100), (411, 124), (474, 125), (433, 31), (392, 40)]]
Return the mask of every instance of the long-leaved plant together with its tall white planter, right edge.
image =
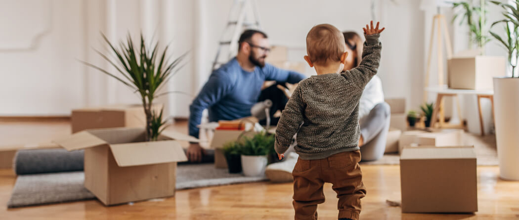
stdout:
[[(519, 0), (513, 3), (491, 1), (503, 8), (503, 19), (496, 24), (504, 24), (506, 36), (490, 32), (508, 52), (508, 76), (494, 77), (494, 115), (496, 123), (497, 156), (501, 178), (519, 181)], [(510, 1), (509, 1), (510, 2)]]

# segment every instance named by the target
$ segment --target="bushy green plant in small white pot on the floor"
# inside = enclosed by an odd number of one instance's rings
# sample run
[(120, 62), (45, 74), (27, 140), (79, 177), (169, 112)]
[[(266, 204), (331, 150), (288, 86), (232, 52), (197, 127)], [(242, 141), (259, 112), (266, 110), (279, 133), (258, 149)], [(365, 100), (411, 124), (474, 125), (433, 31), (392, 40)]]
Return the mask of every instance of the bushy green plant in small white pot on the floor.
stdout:
[(252, 137), (243, 136), (241, 145), (241, 166), (245, 176), (264, 176), (267, 155), (274, 148), (274, 135), (261, 131)]

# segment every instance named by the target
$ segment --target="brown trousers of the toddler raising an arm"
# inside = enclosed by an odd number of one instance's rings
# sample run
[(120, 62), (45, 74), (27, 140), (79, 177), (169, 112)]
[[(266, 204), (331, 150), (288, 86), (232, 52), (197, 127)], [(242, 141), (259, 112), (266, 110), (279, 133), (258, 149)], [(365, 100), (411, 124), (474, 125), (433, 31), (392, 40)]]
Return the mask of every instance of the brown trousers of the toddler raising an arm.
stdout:
[(360, 150), (318, 160), (297, 159), (292, 172), (295, 219), (317, 219), (317, 204), (324, 202), (324, 183), (333, 184), (332, 188), (337, 192), (338, 218), (359, 219), (360, 199), (366, 195), (360, 159)]

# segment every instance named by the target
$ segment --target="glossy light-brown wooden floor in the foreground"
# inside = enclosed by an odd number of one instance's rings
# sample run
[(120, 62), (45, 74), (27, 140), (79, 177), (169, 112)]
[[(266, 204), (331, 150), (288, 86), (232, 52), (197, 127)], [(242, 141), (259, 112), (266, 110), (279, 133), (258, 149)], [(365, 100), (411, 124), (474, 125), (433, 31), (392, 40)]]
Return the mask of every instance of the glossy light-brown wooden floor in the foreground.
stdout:
[[(45, 126), (24, 123), (17, 131), (38, 132)], [(65, 132), (67, 122), (48, 127)], [(12, 125), (11, 122), (7, 125)], [(39, 125), (39, 126), (34, 126)], [(22, 129), (24, 128), (24, 129)], [(187, 130), (185, 123), (173, 128)], [(52, 128), (44, 129), (49, 132)], [(0, 131), (9, 131), (0, 123)], [(68, 131), (67, 131), (68, 132)], [(0, 140), (23, 144), (22, 134), (0, 134)], [(27, 135), (26, 135), (27, 136)], [(35, 135), (39, 139), (41, 135)], [(43, 137), (42, 137), (43, 138)], [(16, 139), (16, 140), (15, 140)], [(20, 142), (21, 141), (21, 142)], [(36, 141), (31, 139), (31, 141)], [(45, 140), (43, 140), (45, 141)], [(20, 142), (20, 143), (18, 143)], [(33, 143), (33, 142), (30, 142)], [(519, 219), (519, 182), (503, 181), (498, 167), (478, 167), (479, 212), (475, 214), (408, 214), (400, 207), (389, 207), (386, 200), (400, 200), (398, 166), (362, 166), (367, 196), (362, 200), (361, 219)], [(156, 201), (105, 207), (97, 200), (7, 209), (16, 176), (0, 170), (0, 219), (293, 219), (292, 184), (269, 182), (187, 189), (175, 197)], [(441, 181), (441, 180), (439, 180)], [(330, 185), (325, 185), (326, 202), (319, 205), (320, 219), (336, 219), (337, 199)]]

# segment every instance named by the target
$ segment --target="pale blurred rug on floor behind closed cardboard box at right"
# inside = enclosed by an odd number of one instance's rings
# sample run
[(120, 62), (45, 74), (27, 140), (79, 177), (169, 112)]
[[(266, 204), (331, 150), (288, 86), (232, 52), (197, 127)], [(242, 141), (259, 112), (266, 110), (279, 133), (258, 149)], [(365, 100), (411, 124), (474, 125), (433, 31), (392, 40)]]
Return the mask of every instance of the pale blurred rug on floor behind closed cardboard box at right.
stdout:
[[(467, 146), (474, 145), (476, 151), (476, 162), (478, 166), (498, 166), (496, 135), (477, 135), (465, 133), (463, 143)], [(398, 165), (399, 154), (385, 154), (376, 161), (361, 162), (361, 165)]]

